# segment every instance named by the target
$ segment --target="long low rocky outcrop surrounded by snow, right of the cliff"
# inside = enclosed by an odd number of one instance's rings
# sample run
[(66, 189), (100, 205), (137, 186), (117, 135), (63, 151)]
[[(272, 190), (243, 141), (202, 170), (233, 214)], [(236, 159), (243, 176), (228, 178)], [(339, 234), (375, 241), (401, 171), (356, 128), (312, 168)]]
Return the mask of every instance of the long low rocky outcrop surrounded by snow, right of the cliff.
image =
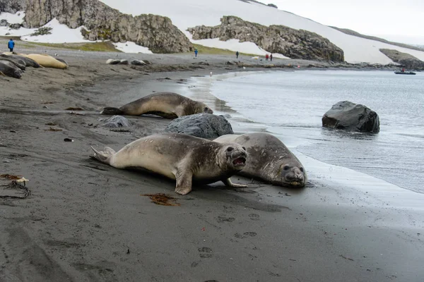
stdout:
[(283, 54), (291, 59), (344, 61), (343, 50), (329, 39), (314, 32), (295, 30), (284, 25), (266, 27), (235, 16), (224, 16), (218, 26), (200, 25), (188, 30), (193, 39), (240, 39), (240, 42), (254, 42), (266, 51)]

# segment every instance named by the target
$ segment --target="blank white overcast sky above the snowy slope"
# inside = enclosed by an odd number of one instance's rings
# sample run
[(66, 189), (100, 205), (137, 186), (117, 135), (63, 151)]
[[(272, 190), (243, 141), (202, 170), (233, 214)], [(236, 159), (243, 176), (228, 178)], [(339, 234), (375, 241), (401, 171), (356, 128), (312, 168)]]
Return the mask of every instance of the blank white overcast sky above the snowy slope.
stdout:
[(424, 0), (259, 0), (323, 25), (424, 45)]

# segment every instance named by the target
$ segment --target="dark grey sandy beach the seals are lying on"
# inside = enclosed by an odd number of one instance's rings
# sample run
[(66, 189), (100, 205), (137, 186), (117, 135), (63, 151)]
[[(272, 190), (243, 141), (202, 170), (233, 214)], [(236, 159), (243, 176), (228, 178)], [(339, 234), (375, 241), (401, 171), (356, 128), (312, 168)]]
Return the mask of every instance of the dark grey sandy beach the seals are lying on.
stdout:
[[(89, 158), (90, 146), (120, 149), (170, 122), (127, 116), (129, 132), (111, 131), (99, 126), (103, 106), (239, 71), (225, 65), (229, 56), (201, 66), (189, 54), (119, 54), (152, 62), (134, 69), (105, 65), (112, 54), (55, 52), (68, 70), (0, 78), (0, 174), (24, 176), (31, 190), (0, 199), (0, 281), (422, 280), (424, 197), (416, 192), (300, 156), (314, 171), (305, 189), (235, 176), (249, 188), (196, 185), (181, 196), (172, 180)], [(156, 193), (179, 206), (143, 196)]]

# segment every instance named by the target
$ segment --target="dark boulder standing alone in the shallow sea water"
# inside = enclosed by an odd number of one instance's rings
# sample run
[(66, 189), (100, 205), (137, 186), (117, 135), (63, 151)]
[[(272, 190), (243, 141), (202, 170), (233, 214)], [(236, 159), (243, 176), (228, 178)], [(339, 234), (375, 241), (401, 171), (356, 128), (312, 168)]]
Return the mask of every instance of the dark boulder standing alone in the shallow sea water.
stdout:
[(322, 126), (367, 133), (379, 132), (379, 117), (375, 111), (349, 101), (338, 102), (322, 116)]

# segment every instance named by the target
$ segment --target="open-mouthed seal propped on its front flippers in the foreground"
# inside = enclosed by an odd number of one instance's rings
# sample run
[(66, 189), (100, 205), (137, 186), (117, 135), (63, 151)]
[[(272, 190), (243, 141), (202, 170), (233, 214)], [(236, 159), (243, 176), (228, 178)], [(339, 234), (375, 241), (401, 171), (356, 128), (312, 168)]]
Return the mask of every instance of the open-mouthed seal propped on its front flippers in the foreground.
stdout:
[(186, 195), (192, 182), (223, 183), (232, 188), (230, 176), (245, 168), (247, 152), (238, 144), (213, 142), (178, 133), (160, 133), (129, 143), (118, 152), (110, 147), (95, 152), (94, 159), (115, 168), (144, 168), (177, 180), (175, 192)]

